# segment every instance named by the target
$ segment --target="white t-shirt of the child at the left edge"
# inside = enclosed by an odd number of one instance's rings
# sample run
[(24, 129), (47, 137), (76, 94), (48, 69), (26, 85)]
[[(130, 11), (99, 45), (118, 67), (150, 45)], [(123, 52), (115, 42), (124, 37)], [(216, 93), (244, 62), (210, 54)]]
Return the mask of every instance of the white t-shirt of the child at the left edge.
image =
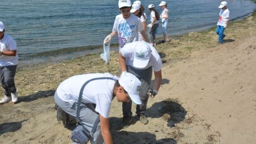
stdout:
[[(4, 37), (0, 40), (1, 51), (15, 51), (17, 48), (15, 40), (7, 34), (4, 33)], [(0, 56), (0, 66), (14, 66), (18, 63), (18, 54), (16, 56), (5, 56), (1, 54)]]

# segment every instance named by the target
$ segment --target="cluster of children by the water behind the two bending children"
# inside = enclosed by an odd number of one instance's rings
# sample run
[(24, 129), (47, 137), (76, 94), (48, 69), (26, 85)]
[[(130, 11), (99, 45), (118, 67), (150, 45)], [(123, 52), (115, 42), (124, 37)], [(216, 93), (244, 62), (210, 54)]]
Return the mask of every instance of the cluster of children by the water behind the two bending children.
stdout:
[[(144, 40), (145, 42), (149, 42), (151, 45), (155, 46), (155, 34), (159, 27), (160, 18), (162, 19), (163, 33), (163, 39), (160, 41), (162, 43), (169, 41), (166, 30), (169, 19), (167, 9), (168, 5), (165, 1), (162, 1), (159, 6), (163, 9), (161, 15), (159, 15), (158, 11), (155, 9), (154, 4), (149, 4), (150, 23), (147, 25), (147, 15), (144, 12), (145, 8), (141, 1), (135, 1), (133, 4), (131, 4), (130, 0), (124, 1), (123, 3), (120, 3), (119, 1), (119, 11), (121, 14), (116, 16), (113, 32), (107, 35), (104, 42), (109, 42), (114, 35), (118, 35), (119, 49), (121, 49), (126, 43), (137, 40)], [(147, 27), (149, 30), (146, 35)]]

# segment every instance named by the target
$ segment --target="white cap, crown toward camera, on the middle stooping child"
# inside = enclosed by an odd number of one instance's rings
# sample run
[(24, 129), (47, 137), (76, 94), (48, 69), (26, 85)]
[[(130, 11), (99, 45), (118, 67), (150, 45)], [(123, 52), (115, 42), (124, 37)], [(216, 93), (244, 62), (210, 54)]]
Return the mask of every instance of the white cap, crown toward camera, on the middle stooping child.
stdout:
[(134, 49), (133, 66), (145, 68), (151, 57), (151, 48), (147, 42), (137, 42)]

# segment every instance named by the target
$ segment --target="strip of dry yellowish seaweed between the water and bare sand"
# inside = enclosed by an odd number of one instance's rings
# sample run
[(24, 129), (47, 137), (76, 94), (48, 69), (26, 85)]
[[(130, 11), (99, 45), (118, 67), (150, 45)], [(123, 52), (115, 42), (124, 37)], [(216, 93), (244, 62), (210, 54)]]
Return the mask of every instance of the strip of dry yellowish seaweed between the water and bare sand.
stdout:
[[(255, 22), (256, 11), (253, 11), (252, 15), (248, 18), (244, 18), (241, 21), (234, 21), (229, 23), (226, 28), (225, 42), (232, 42), (236, 39), (240, 39), (245, 35), (249, 35), (253, 31), (253, 22)], [(256, 23), (256, 22), (255, 22)], [(242, 25), (242, 27), (241, 27)], [(244, 26), (243, 26), (244, 25)], [(253, 29), (253, 30), (250, 30)], [(204, 49), (208, 47), (214, 47), (217, 44), (217, 35), (215, 33), (215, 27), (202, 32), (190, 32), (183, 35), (178, 35), (176, 39), (171, 40), (169, 43), (156, 45), (155, 49), (159, 52), (164, 66), (176, 63), (182, 59), (190, 57), (189, 54), (192, 51), (198, 49)], [(118, 51), (111, 51), (111, 61), (107, 65), (104, 60), (99, 56), (100, 53), (85, 54), (84, 56), (77, 57), (75, 59), (68, 59), (58, 61), (54, 63), (35, 64), (32, 66), (21, 66), (17, 69), (16, 81), (19, 83), (17, 87), (23, 87), (20, 90), (20, 95), (27, 95), (28, 93), (34, 93), (39, 90), (55, 90), (58, 84), (64, 79), (73, 76), (80, 75), (82, 73), (112, 73), (113, 75), (119, 75), (120, 68), (118, 63)], [(32, 73), (32, 75), (29, 75)], [(47, 75), (46, 75), (47, 74)], [(32, 85), (37, 87), (30, 89), (23, 80), (33, 81)], [(34, 81), (41, 78), (43, 81)], [(52, 78), (54, 78), (52, 80)], [(25, 83), (24, 83), (25, 82)], [(27, 87), (27, 88), (26, 88)]]

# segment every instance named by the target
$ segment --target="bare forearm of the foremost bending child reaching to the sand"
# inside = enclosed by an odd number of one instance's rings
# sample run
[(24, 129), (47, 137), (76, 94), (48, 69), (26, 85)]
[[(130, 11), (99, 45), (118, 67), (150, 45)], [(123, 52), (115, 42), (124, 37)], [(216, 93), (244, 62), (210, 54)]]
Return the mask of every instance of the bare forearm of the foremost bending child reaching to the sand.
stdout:
[(106, 144), (112, 144), (112, 137), (109, 131), (109, 119), (100, 115), (101, 121), (101, 134)]

